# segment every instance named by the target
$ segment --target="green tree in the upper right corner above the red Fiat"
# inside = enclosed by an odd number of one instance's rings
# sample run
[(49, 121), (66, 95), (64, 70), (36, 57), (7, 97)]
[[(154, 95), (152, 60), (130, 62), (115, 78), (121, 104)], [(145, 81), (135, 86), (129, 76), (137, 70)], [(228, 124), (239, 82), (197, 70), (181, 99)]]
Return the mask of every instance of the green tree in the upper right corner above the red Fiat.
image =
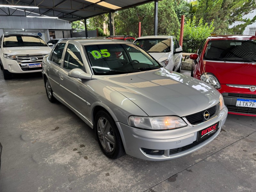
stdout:
[[(214, 32), (217, 34), (242, 34), (245, 27), (256, 20), (256, 16), (243, 19), (244, 15), (255, 9), (254, 5), (255, 0), (200, 0), (195, 15), (197, 22), (200, 18), (205, 23), (214, 20)], [(242, 24), (229, 28), (235, 21), (242, 21)]]

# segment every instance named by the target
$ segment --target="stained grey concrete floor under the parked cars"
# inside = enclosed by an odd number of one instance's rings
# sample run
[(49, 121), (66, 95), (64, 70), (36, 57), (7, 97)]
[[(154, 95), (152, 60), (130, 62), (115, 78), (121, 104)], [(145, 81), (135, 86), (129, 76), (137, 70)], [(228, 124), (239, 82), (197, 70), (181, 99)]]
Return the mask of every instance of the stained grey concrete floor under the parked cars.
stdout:
[(104, 156), (91, 128), (48, 101), (40, 73), (5, 81), (0, 71), (0, 111), (1, 192), (256, 191), (255, 117), (228, 115), (209, 145), (153, 162)]

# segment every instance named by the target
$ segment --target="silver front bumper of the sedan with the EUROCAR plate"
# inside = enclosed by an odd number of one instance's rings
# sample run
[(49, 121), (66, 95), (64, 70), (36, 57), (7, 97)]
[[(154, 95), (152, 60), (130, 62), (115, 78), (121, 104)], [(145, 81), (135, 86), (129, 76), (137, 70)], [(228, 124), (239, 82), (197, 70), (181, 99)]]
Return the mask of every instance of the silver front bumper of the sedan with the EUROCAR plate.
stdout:
[[(202, 124), (193, 127), (187, 126), (179, 129), (166, 131), (150, 131), (137, 129), (126, 124), (122, 124), (120, 122), (116, 122), (116, 125), (122, 137), (126, 154), (140, 159), (161, 161), (187, 155), (211, 142), (220, 133), (221, 127), (225, 123), (227, 115), (228, 109), (225, 107), (220, 111), (218, 116)], [(186, 150), (174, 154), (170, 153), (171, 149), (189, 146), (197, 140), (198, 131), (207, 128), (208, 126), (211, 126), (212, 124), (215, 124), (217, 122), (220, 122), (219, 130), (211, 137), (207, 138), (198, 145), (195, 145)], [(141, 148), (164, 150), (164, 154), (149, 155), (146, 154)]]

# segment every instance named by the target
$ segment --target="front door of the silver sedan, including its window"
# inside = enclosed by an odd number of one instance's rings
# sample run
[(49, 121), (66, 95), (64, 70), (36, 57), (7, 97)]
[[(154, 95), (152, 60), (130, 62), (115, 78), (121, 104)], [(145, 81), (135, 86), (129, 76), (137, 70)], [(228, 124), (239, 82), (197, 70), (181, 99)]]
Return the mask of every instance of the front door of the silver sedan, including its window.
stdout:
[(84, 68), (85, 62), (81, 53), (84, 54), (83, 49), (80, 51), (77, 45), (68, 44), (65, 51), (63, 68), (60, 70), (61, 98), (76, 111), (88, 117), (86, 90), (90, 80), (82, 80), (68, 76), (70, 70), (74, 68)]

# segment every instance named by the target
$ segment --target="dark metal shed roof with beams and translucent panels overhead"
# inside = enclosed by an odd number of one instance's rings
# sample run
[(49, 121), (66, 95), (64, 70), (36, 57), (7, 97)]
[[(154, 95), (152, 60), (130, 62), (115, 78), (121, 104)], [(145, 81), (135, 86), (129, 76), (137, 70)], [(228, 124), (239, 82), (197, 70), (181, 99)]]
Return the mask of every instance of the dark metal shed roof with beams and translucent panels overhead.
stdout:
[[(14, 0), (13, 4), (16, 5), (30, 5), (38, 6), (39, 9), (27, 9), (27, 11), (32, 11), (34, 13), (46, 16), (58, 17), (62, 20), (75, 21), (84, 18), (93, 17), (96, 15), (101, 15), (108, 12), (114, 12), (129, 7), (134, 7), (140, 4), (145, 4), (152, 2), (154, 0), (42, 0), (42, 1), (31, 1), (31, 0)], [(12, 1), (0, 0), (0, 4), (7, 4)], [(3, 8), (1, 8), (3, 9)], [(23, 8), (20, 8), (23, 10)], [(4, 10), (4, 9), (3, 9)], [(10, 13), (9, 13), (10, 11)], [(5, 12), (0, 10), (0, 15), (15, 15), (15, 16), (25, 16), (18, 15), (15, 11), (8, 8)], [(27, 15), (31, 13), (27, 12)], [(42, 19), (42, 18), (40, 18)]]

